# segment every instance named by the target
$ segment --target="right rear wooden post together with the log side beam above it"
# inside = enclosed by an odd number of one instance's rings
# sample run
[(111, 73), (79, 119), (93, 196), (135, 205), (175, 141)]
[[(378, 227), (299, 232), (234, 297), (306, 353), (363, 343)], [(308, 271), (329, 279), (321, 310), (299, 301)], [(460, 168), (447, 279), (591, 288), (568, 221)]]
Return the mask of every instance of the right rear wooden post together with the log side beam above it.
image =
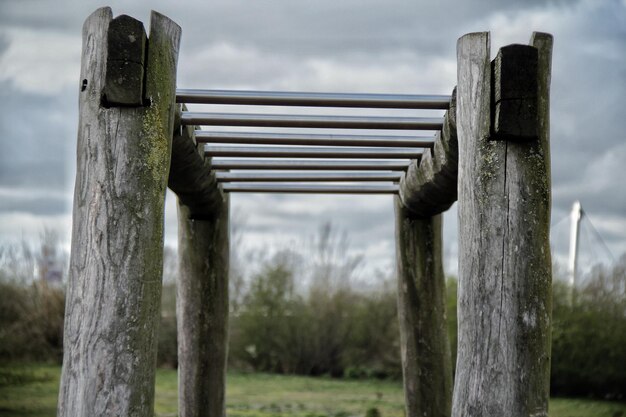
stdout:
[(449, 417), (452, 359), (446, 325), (442, 216), (456, 200), (456, 100), (434, 147), (413, 161), (395, 200), (398, 318), (406, 415)]

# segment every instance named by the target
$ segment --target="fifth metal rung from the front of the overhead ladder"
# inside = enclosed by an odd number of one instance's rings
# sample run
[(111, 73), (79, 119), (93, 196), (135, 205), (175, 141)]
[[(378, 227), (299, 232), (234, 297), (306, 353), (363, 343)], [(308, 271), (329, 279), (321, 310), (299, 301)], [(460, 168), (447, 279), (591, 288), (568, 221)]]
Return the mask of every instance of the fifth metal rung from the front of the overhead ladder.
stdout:
[(406, 171), (411, 161), (311, 161), (288, 159), (212, 159), (213, 169)]

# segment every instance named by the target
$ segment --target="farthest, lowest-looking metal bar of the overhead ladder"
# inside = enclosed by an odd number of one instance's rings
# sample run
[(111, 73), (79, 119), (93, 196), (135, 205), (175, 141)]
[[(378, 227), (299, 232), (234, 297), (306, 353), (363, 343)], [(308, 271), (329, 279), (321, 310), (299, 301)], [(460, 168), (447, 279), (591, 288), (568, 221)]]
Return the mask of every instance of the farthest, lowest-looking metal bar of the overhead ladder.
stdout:
[(303, 194), (397, 194), (398, 185), (222, 184), (225, 192)]

